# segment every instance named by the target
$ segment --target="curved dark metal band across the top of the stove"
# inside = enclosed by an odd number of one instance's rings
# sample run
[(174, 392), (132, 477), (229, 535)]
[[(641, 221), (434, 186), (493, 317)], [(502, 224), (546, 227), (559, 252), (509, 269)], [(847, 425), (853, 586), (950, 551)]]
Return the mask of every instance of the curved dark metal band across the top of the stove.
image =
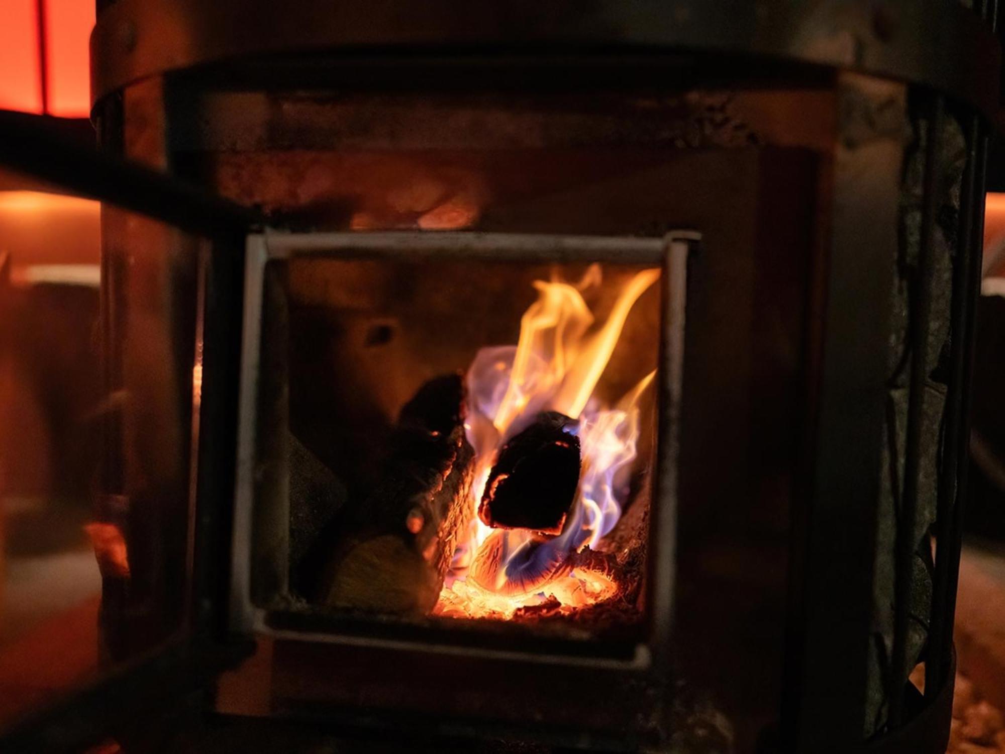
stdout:
[[(931, 86), (992, 115), (997, 42), (955, 0), (120, 0), (91, 37), (94, 100), (207, 63), (306, 50), (691, 51), (787, 59)], [(543, 61), (547, 64), (547, 61)]]

